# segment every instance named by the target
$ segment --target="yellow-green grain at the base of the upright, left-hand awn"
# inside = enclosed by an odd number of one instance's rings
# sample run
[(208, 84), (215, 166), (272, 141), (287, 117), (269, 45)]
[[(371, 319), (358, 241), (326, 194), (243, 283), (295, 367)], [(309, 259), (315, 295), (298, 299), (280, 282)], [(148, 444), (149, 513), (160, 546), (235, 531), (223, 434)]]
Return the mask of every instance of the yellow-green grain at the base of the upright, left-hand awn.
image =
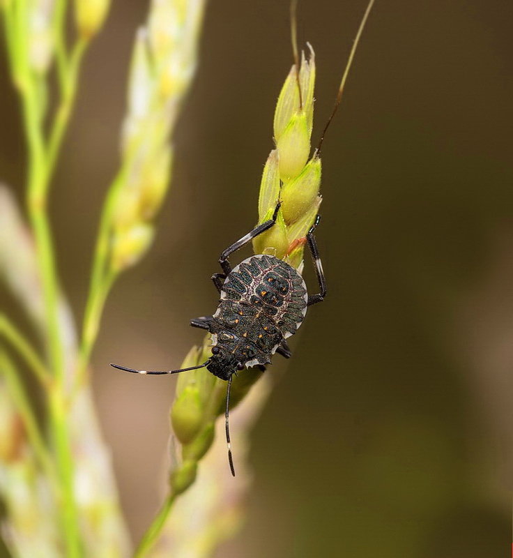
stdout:
[(280, 179), (286, 184), (303, 170), (310, 153), (310, 133), (304, 112), (292, 116), (276, 147), (280, 154)]

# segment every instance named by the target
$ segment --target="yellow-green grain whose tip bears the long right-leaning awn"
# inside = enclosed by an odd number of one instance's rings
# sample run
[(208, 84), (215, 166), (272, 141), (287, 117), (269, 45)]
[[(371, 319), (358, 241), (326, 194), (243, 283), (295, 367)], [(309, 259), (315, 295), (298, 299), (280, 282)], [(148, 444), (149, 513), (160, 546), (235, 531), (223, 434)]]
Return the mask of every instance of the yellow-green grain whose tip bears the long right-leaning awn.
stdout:
[(303, 216), (314, 204), (321, 187), (321, 159), (314, 157), (301, 174), (282, 189), (282, 211), (290, 225)]

